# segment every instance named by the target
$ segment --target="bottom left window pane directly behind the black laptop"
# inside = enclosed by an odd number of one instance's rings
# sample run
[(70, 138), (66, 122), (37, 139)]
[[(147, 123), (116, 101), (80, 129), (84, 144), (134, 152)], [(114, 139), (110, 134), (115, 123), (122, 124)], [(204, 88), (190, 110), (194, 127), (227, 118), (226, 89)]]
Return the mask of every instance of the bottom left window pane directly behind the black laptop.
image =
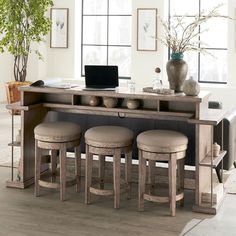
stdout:
[(83, 46), (83, 65), (106, 65), (107, 50), (105, 46)]

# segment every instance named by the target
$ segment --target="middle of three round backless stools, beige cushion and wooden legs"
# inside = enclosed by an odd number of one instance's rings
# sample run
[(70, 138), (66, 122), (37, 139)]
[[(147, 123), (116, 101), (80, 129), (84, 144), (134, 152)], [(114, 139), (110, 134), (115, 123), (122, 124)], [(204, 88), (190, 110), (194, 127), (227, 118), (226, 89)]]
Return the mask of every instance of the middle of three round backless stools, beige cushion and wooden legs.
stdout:
[[(114, 208), (120, 206), (120, 162), (125, 154), (125, 187), (127, 198), (130, 198), (132, 144), (134, 134), (120, 126), (97, 126), (85, 132), (85, 203), (90, 203), (91, 193), (96, 195), (114, 195)], [(93, 154), (99, 156), (100, 188), (95, 188), (92, 181)], [(105, 156), (113, 156), (113, 190), (104, 189)], [(94, 178), (93, 178), (94, 179)]]

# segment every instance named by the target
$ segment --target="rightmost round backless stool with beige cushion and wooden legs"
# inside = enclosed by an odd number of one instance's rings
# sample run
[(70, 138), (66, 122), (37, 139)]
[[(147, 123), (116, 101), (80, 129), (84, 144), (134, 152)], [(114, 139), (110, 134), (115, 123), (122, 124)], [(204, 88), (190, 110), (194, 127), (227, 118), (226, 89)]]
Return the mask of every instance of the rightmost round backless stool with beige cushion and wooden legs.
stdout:
[[(184, 199), (184, 158), (188, 138), (170, 130), (148, 130), (138, 135), (139, 149), (139, 211), (144, 210), (144, 200), (169, 202), (170, 213), (175, 216), (176, 201), (183, 204)], [(156, 196), (146, 187), (146, 161), (149, 165), (149, 184), (154, 186), (153, 170), (156, 161), (168, 161), (169, 196)], [(178, 168), (177, 168), (178, 161)], [(179, 193), (177, 194), (176, 168), (178, 170)]]

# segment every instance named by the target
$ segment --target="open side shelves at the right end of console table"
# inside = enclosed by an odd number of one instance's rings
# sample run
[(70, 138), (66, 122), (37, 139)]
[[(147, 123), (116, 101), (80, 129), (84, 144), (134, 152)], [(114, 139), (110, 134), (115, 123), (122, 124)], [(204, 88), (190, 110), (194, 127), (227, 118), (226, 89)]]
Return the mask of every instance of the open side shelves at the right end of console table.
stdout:
[[(207, 134), (209, 137), (202, 137), (204, 141), (207, 143), (209, 142), (209, 149), (207, 149), (204, 158), (199, 160), (198, 168), (210, 168), (210, 189), (206, 189), (202, 191), (199, 197), (199, 204), (193, 207), (194, 211), (197, 212), (208, 212), (210, 214), (216, 214), (217, 208), (220, 206), (221, 201), (218, 199), (223, 199), (224, 195), (224, 186), (223, 186), (223, 160), (226, 155), (226, 151), (224, 150), (223, 146), (223, 136), (224, 136), (224, 115), (226, 111), (220, 109), (208, 109), (204, 113), (202, 113), (197, 119), (190, 119), (190, 123), (195, 123), (198, 127), (202, 127), (202, 129), (209, 130)], [(214, 126), (220, 125), (221, 126), (221, 150), (219, 156), (213, 156), (213, 144), (214, 144)], [(203, 128), (204, 127), (204, 128)], [(200, 139), (200, 138), (199, 138)], [(199, 140), (201, 142), (201, 140)], [(220, 183), (217, 185), (214, 183), (213, 178), (213, 170), (221, 165), (221, 171), (217, 172), (218, 178), (221, 180)], [(204, 172), (204, 169), (202, 170)], [(200, 181), (199, 181), (200, 182)], [(200, 184), (200, 183), (199, 183)], [(214, 192), (215, 190), (215, 192)], [(218, 195), (220, 197), (218, 197)], [(217, 199), (217, 200), (216, 200)]]

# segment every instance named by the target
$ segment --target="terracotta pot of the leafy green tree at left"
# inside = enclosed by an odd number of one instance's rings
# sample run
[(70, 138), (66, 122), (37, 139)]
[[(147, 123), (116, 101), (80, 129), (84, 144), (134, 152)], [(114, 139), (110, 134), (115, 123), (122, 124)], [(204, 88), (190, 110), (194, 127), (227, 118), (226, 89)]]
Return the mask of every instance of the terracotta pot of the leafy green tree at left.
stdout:
[[(6, 94), (7, 94), (7, 102), (8, 104), (20, 101), (20, 91), (18, 90), (19, 87), (30, 85), (31, 82), (24, 81), (10, 81), (6, 83)], [(14, 115), (20, 114), (19, 110), (12, 110)]]

